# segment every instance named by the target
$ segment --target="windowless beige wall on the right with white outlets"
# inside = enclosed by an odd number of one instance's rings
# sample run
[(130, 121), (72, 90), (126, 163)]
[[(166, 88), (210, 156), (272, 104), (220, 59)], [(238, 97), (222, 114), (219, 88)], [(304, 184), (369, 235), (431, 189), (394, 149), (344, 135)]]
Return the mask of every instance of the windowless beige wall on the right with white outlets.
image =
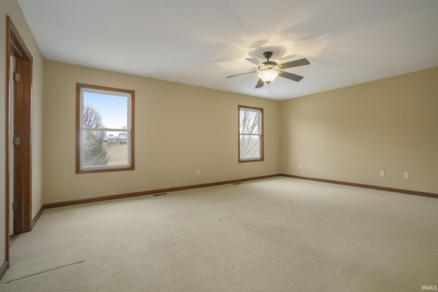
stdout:
[(431, 68), (281, 102), (281, 172), (438, 194), (437, 80)]

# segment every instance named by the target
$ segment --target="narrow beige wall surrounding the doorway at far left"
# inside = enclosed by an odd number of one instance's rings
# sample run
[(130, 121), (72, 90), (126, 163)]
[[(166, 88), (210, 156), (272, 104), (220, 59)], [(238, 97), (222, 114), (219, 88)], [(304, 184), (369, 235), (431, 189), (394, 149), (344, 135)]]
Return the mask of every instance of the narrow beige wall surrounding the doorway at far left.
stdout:
[[(38, 213), (42, 206), (42, 200), (38, 196), (38, 189), (42, 185), (42, 155), (41, 155), (41, 135), (42, 135), (42, 55), (31, 30), (27, 25), (23, 12), (16, 0), (0, 1), (0, 250), (5, 250), (5, 143), (7, 130), (5, 129), (6, 116), (6, 16), (9, 15), (24, 40), (27, 49), (33, 57), (33, 83), (32, 83), (32, 217)], [(0, 264), (4, 261), (4, 252), (0, 252)]]

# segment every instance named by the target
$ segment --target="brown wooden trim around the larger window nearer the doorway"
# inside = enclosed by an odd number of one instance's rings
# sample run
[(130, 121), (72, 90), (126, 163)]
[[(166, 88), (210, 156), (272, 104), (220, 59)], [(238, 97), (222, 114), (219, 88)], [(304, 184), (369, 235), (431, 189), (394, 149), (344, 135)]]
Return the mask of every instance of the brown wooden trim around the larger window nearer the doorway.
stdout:
[[(81, 170), (81, 155), (80, 155), (80, 147), (81, 147), (81, 88), (90, 88), (95, 90), (105, 90), (105, 91), (114, 91), (114, 92), (123, 92), (127, 94), (131, 94), (131, 165), (127, 168), (102, 168), (102, 169), (92, 169), (92, 170)], [(134, 170), (135, 169), (135, 156), (134, 156), (134, 142), (135, 142), (135, 131), (134, 131), (134, 120), (135, 120), (135, 101), (136, 101), (136, 92), (134, 90), (124, 90), (120, 88), (109, 88), (105, 86), (99, 85), (90, 85), (83, 83), (76, 83), (76, 173), (77, 174), (89, 174), (96, 172), (119, 172), (123, 170)]]

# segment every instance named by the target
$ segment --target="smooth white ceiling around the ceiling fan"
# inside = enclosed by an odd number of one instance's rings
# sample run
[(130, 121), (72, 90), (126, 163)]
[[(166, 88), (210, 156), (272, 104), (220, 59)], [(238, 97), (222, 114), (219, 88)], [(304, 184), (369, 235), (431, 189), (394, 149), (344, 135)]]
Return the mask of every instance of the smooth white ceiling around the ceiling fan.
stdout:
[[(284, 100), (438, 66), (437, 0), (18, 0), (44, 59)], [(255, 89), (246, 57), (310, 65)]]

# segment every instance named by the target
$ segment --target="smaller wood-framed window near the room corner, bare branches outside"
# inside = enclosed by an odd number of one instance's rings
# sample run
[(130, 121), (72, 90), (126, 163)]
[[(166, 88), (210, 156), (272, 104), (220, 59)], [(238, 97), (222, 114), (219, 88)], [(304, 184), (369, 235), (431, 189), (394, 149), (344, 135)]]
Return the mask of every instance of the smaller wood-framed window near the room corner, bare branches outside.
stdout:
[(263, 161), (263, 109), (239, 105), (239, 162)]

